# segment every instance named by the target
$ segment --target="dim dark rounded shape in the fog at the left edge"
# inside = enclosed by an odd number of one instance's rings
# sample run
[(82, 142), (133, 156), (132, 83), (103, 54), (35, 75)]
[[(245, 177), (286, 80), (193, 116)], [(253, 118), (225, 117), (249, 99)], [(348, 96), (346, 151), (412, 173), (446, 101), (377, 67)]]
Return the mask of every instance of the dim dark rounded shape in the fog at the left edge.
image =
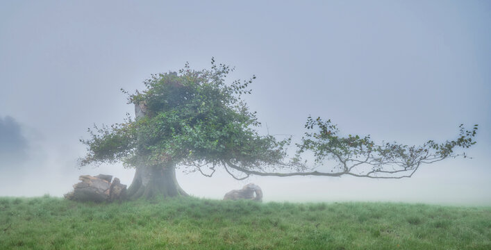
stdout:
[(21, 165), (27, 159), (28, 140), (13, 117), (0, 117), (0, 167)]

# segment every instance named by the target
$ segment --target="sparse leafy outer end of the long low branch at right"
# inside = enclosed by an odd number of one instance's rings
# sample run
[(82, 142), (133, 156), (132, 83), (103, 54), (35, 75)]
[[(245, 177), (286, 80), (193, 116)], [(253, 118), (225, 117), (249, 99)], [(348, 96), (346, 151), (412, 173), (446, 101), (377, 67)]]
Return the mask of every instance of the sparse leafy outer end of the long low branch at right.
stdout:
[[(459, 126), (460, 134), (456, 140), (438, 144), (433, 140), (419, 145), (408, 146), (397, 142), (376, 144), (369, 135), (340, 135), (338, 127), (331, 120), (323, 121), (320, 117), (308, 117), (305, 127), (312, 132), (305, 133), (295, 160), (299, 161), (301, 153), (312, 151), (315, 163), (334, 160), (338, 163), (331, 169), (335, 174), (349, 174), (369, 178), (402, 178), (410, 177), (422, 164), (435, 163), (450, 157), (463, 156), (456, 153), (457, 148), (467, 149), (476, 144), (474, 137), (478, 125), (465, 130)], [(358, 170), (357, 170), (358, 169)]]

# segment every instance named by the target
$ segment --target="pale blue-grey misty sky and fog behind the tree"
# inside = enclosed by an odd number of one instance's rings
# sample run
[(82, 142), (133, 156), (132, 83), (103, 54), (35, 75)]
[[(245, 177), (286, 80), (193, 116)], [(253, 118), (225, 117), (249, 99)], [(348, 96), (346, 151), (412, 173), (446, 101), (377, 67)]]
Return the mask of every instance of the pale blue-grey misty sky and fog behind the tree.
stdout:
[(145, 78), (218, 63), (255, 74), (260, 133), (299, 140), (306, 117), (344, 134), (421, 144), (479, 124), (473, 159), (413, 178), (252, 177), (178, 173), (196, 197), (253, 182), (265, 201), (491, 204), (489, 1), (0, 1), (0, 196), (61, 196), (81, 174), (92, 124), (134, 112), (119, 91)]

